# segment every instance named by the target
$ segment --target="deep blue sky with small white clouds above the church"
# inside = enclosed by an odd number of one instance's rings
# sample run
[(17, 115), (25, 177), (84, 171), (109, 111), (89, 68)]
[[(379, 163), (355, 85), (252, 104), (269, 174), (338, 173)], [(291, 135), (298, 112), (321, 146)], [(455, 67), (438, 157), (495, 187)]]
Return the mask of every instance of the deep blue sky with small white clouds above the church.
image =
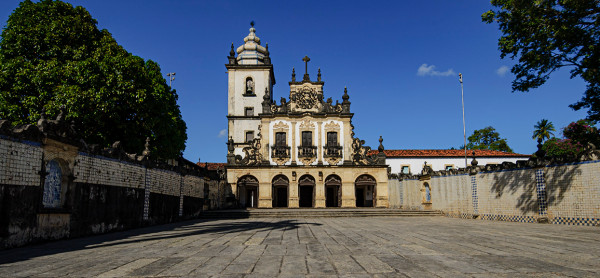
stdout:
[[(511, 92), (514, 62), (500, 59), (497, 25), (481, 22), (489, 1), (67, 1), (85, 7), (127, 51), (158, 62), (188, 127), (184, 157), (226, 160), (227, 74), (224, 64), (256, 22), (275, 68), (274, 97), (289, 96), (292, 67), (320, 67), (325, 97), (348, 87), (356, 136), (376, 148), (446, 149), (463, 144), (463, 74), (467, 136), (493, 126), (515, 152), (536, 150), (533, 126), (557, 129), (584, 118), (569, 104), (585, 83), (568, 69), (528, 93)], [(0, 21), (19, 1), (0, 2)], [(556, 135), (560, 135), (557, 132)]]

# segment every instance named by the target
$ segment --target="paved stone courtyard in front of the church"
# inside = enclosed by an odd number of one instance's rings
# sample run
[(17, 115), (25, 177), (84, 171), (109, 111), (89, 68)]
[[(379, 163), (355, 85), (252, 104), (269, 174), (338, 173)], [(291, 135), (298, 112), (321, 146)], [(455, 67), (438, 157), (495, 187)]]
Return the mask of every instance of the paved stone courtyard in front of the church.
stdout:
[(0, 251), (2, 277), (599, 277), (600, 228), (445, 217), (197, 220)]

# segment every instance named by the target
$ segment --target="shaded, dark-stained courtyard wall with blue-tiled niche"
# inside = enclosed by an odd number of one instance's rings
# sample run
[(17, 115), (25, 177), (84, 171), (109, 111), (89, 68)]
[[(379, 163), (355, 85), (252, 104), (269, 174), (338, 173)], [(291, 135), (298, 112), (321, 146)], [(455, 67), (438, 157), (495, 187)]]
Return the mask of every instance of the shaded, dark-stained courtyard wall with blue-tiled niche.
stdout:
[(224, 184), (216, 172), (40, 141), (0, 135), (0, 249), (197, 217), (208, 188)]

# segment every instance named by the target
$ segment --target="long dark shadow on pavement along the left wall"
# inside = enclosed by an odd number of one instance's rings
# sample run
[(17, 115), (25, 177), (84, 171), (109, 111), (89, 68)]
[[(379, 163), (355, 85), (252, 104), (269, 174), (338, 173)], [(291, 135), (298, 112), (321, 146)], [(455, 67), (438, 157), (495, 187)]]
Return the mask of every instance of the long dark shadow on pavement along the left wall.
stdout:
[(246, 231), (258, 232), (267, 230), (290, 230), (297, 229), (300, 225), (320, 226), (322, 224), (299, 222), (297, 220), (192, 220), (2, 250), (0, 251), (0, 268), (2, 264), (77, 250), (89, 250), (122, 244), (157, 241), (211, 233), (225, 234)]

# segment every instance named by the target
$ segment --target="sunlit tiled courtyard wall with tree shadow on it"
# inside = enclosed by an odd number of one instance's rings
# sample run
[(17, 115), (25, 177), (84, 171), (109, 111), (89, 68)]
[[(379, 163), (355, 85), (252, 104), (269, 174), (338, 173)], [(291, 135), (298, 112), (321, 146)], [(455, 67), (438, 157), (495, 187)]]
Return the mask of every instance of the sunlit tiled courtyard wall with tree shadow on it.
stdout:
[[(393, 207), (450, 217), (600, 226), (600, 161), (390, 181)], [(427, 189), (430, 198), (427, 201)]]

